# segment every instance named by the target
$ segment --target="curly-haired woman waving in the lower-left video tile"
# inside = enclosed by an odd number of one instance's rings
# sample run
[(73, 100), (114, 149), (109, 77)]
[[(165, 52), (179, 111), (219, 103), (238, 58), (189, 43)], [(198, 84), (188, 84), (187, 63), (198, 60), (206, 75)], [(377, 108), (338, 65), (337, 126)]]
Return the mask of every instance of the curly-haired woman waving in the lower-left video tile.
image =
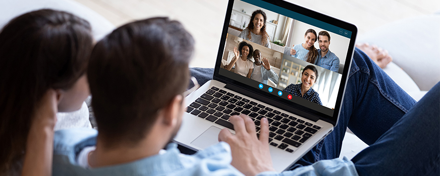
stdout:
[(253, 52), (254, 48), (251, 44), (244, 41), (240, 42), (238, 49), (234, 47), (235, 56), (225, 68), (231, 70), (232, 66), (235, 65), (235, 73), (251, 78), (252, 71), (254, 70), (254, 63), (251, 60)]

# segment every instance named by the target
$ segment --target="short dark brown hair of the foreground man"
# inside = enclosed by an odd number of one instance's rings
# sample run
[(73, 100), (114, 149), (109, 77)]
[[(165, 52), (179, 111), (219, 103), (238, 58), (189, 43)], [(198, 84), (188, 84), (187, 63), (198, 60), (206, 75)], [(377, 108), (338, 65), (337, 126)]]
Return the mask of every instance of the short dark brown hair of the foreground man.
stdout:
[(126, 24), (95, 45), (87, 73), (104, 147), (144, 138), (188, 86), (193, 52), (191, 34), (168, 18)]

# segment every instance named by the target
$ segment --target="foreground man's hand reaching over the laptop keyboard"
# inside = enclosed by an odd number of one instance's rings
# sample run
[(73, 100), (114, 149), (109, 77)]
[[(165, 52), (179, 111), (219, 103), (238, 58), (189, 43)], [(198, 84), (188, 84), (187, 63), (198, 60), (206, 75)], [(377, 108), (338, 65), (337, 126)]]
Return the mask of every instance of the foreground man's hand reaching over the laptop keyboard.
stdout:
[(248, 176), (263, 171), (275, 171), (269, 153), (267, 119), (261, 119), (260, 139), (257, 138), (254, 122), (248, 116), (235, 115), (229, 121), (234, 125), (235, 135), (225, 128), (218, 134), (218, 140), (231, 146), (231, 164)]

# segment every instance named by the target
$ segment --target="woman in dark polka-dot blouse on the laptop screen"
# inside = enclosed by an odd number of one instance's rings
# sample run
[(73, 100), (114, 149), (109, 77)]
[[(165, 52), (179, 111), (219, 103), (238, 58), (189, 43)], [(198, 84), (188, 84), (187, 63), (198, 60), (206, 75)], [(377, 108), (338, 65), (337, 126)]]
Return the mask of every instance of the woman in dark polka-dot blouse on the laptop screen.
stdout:
[(301, 83), (290, 84), (284, 89), (284, 91), (310, 102), (322, 105), (319, 94), (312, 88), (316, 80), (318, 80), (318, 70), (313, 65), (307, 65), (301, 73)]

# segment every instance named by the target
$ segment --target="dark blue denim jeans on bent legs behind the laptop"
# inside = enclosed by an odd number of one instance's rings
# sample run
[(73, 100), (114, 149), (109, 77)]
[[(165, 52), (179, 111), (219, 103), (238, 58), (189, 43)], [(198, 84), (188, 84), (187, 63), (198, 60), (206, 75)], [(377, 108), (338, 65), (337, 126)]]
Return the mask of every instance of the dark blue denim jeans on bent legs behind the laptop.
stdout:
[[(191, 69), (201, 83), (212, 72)], [(439, 90), (437, 83), (416, 103), (356, 48), (338, 125), (292, 169), (339, 157), (348, 127), (370, 145), (352, 159), (360, 175), (439, 175)]]

